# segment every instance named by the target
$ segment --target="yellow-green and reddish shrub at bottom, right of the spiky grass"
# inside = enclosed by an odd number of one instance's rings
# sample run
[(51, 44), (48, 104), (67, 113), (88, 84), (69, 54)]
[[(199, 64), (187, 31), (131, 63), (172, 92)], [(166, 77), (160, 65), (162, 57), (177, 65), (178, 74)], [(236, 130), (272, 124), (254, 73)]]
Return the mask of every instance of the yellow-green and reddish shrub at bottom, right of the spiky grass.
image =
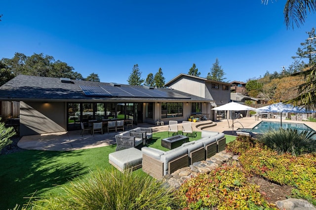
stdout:
[(178, 190), (188, 209), (264, 209), (272, 207), (259, 193), (259, 186), (247, 182), (236, 166), (223, 166), (188, 179)]

